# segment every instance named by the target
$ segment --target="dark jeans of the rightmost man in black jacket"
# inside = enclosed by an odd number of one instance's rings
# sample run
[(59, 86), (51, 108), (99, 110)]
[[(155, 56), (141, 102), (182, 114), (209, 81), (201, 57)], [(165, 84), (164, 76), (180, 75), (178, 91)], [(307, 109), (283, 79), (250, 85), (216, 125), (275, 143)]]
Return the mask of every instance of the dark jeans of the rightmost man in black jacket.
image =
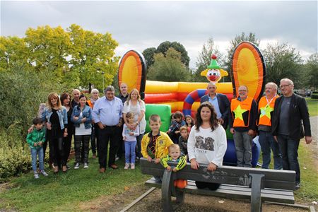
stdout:
[(295, 182), (300, 183), (300, 167), (298, 163), (298, 146), (300, 140), (291, 139), (290, 136), (278, 134), (278, 145), (283, 156), (283, 170), (296, 172)]

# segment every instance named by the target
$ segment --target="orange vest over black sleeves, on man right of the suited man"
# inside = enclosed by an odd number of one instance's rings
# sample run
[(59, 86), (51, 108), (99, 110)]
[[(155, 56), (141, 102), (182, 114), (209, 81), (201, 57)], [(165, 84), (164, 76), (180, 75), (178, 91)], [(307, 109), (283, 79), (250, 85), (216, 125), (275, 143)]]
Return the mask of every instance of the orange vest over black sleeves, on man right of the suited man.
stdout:
[[(249, 98), (247, 97), (244, 101), (240, 102), (237, 99), (232, 99), (231, 102), (231, 112), (232, 112), (232, 117), (233, 117), (233, 127), (237, 127), (237, 126), (243, 126), (243, 127), (247, 127), (249, 126), (249, 115), (251, 113), (251, 107), (252, 107), (252, 102), (253, 102), (253, 98)], [(235, 114), (235, 110), (237, 109), (237, 107), (241, 107), (242, 110), (247, 110), (246, 112), (248, 112), (248, 117), (243, 117), (243, 119), (240, 119), (239, 116), (237, 116), (237, 114)], [(245, 125), (245, 123), (247, 123)]]

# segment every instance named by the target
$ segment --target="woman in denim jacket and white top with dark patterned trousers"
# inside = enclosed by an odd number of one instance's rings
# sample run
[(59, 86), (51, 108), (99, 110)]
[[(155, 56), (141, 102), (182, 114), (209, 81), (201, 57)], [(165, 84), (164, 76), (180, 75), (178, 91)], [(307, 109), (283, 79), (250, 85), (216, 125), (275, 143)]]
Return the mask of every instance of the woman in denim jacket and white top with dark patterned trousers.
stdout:
[(87, 98), (80, 95), (79, 104), (73, 108), (71, 122), (75, 126), (75, 160), (74, 167), (77, 170), (81, 163), (81, 148), (84, 152), (84, 169), (88, 168), (88, 151), (90, 145), (90, 135), (92, 134), (92, 109), (86, 105)]

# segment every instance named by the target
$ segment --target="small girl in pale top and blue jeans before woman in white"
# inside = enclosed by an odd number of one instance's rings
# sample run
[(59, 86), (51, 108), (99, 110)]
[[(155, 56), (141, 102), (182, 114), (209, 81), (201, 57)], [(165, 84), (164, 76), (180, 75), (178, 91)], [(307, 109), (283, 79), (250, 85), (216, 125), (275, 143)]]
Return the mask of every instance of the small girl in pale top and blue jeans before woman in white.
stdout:
[[(126, 120), (128, 124), (134, 124), (134, 113), (133, 112), (127, 112), (126, 114)], [(136, 143), (137, 138), (136, 136), (139, 136), (139, 126), (137, 124), (135, 129), (129, 129), (129, 127), (124, 124), (123, 131), (122, 131), (122, 137), (125, 142), (125, 166), (124, 169), (127, 170), (130, 168), (131, 170), (135, 169), (135, 160), (136, 160)], [(131, 161), (129, 160), (131, 157)], [(130, 162), (130, 163), (129, 163)]]

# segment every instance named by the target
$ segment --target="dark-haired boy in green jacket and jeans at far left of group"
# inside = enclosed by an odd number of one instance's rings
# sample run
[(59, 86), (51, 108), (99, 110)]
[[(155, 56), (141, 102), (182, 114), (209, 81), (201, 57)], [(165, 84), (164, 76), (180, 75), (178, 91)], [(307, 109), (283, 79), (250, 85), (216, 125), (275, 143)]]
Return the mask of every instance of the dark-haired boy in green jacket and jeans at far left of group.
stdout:
[(37, 155), (39, 155), (40, 173), (47, 177), (47, 172), (45, 172), (44, 170), (43, 160), (43, 143), (45, 143), (45, 130), (42, 129), (43, 124), (42, 119), (40, 118), (33, 119), (33, 126), (35, 127), (35, 129), (28, 133), (26, 141), (28, 142), (31, 149), (34, 178), (38, 179), (39, 175), (37, 174)]

